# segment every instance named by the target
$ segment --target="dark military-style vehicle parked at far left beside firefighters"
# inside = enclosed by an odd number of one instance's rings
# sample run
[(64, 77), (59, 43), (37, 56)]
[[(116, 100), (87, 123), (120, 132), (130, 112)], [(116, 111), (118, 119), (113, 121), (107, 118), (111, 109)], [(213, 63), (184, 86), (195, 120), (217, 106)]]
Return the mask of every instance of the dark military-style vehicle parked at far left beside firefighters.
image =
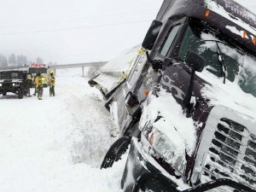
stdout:
[(31, 74), (26, 71), (12, 70), (0, 72), (0, 94), (6, 96), (8, 92), (15, 93), (19, 99), (30, 96), (32, 87)]

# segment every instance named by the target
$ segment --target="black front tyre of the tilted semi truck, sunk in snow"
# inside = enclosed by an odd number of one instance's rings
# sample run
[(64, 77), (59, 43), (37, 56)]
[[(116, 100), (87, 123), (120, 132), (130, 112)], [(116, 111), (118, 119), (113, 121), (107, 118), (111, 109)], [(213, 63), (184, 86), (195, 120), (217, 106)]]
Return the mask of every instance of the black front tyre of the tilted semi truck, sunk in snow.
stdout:
[(120, 160), (122, 154), (125, 154), (130, 143), (131, 137), (120, 137), (115, 143), (113, 143), (102, 160), (101, 169), (111, 167), (115, 161)]

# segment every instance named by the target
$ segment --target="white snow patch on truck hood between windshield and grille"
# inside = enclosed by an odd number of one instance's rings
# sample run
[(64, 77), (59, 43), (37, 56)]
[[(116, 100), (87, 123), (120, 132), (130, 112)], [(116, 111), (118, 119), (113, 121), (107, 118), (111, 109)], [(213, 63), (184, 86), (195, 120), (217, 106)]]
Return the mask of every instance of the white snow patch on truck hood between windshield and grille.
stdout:
[(255, 119), (256, 98), (253, 95), (243, 92), (238, 84), (229, 80), (223, 84), (223, 79), (217, 78), (206, 70), (197, 75), (209, 83), (201, 89), (201, 95), (209, 100), (211, 106), (231, 108), (237, 113)]

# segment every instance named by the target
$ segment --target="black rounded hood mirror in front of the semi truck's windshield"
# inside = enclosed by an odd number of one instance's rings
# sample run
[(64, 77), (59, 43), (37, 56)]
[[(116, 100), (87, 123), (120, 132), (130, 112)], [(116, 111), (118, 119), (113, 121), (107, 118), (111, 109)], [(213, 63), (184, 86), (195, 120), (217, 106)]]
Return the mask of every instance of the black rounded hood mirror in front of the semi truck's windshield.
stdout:
[(202, 72), (205, 67), (206, 61), (200, 55), (193, 51), (189, 51), (186, 57), (186, 63), (196, 72)]

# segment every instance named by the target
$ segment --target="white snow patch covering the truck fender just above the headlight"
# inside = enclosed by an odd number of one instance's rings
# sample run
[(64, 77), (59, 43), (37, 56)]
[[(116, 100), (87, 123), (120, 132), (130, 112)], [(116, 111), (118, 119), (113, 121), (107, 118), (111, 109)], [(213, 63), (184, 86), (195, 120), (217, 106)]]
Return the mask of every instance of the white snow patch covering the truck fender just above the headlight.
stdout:
[[(162, 118), (154, 122), (158, 116)], [(140, 127), (147, 122), (151, 122), (155, 129), (166, 134), (175, 146), (177, 154), (184, 154), (186, 150), (189, 155), (192, 155), (196, 140), (194, 121), (185, 117), (183, 108), (171, 93), (160, 90), (158, 97), (148, 96), (148, 106), (143, 108)]]

